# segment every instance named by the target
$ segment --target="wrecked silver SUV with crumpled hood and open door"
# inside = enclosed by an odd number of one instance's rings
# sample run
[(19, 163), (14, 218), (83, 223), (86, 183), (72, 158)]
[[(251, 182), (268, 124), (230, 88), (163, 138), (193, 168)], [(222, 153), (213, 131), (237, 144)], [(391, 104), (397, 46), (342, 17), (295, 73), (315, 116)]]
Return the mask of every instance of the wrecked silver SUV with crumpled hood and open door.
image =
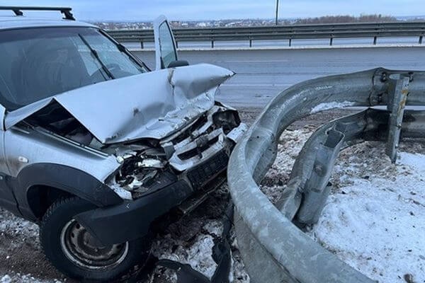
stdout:
[(147, 257), (152, 225), (225, 180), (245, 125), (215, 93), (233, 73), (179, 61), (165, 18), (150, 71), (70, 8), (0, 9), (16, 13), (0, 17), (0, 205), (40, 224), (64, 274), (118, 278)]

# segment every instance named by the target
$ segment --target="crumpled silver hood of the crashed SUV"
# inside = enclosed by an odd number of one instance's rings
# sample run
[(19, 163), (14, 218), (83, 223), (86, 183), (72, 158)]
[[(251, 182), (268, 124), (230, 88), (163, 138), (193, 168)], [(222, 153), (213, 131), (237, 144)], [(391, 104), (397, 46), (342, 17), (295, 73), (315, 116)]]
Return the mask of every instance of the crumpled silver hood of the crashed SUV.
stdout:
[(57, 102), (103, 144), (162, 139), (209, 110), (217, 87), (233, 74), (197, 64), (96, 83), (8, 112), (5, 127)]

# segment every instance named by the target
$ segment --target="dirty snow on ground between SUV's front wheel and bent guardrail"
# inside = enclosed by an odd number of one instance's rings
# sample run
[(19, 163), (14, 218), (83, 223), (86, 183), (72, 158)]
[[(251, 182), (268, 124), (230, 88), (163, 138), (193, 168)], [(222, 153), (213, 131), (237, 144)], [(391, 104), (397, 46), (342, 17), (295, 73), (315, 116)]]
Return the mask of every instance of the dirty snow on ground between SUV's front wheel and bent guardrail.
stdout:
[[(159, 235), (152, 246), (152, 253), (159, 259), (168, 259), (191, 265), (194, 270), (211, 278), (217, 268), (212, 259), (212, 247), (220, 240), (223, 226), (220, 219), (225, 212), (228, 190), (224, 185), (217, 190), (216, 196), (202, 204), (190, 217), (171, 224), (164, 235)], [(232, 277), (235, 283), (249, 283), (234, 231), (231, 231)], [(154, 281), (162, 278), (162, 281)], [(157, 267), (149, 279), (150, 282), (175, 282), (174, 272)]]

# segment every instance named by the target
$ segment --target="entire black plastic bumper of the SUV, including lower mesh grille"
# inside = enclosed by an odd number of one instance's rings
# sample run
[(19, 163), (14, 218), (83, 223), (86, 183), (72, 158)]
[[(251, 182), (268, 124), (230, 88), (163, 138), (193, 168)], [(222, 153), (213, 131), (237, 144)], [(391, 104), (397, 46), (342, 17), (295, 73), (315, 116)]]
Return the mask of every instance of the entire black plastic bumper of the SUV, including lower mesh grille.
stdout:
[(221, 179), (220, 175), (225, 172), (228, 161), (227, 152), (219, 151), (187, 171), (183, 178), (166, 187), (154, 190), (137, 200), (96, 208), (78, 214), (74, 218), (106, 246), (141, 238), (147, 235), (152, 222), (159, 216), (178, 207), (179, 204), (186, 207), (189, 202), (190, 207), (193, 198), (205, 199), (202, 198), (203, 195), (208, 195), (225, 180)]

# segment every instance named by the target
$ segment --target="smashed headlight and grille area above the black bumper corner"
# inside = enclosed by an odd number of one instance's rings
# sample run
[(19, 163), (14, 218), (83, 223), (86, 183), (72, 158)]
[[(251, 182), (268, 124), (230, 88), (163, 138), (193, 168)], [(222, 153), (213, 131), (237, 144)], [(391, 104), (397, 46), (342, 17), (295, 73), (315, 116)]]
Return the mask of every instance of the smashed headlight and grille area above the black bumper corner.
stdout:
[(245, 129), (236, 110), (216, 104), (160, 141), (115, 148), (122, 166), (111, 178), (111, 187), (128, 200), (175, 180), (186, 180), (193, 190), (205, 188), (215, 175), (225, 171), (228, 156)]

